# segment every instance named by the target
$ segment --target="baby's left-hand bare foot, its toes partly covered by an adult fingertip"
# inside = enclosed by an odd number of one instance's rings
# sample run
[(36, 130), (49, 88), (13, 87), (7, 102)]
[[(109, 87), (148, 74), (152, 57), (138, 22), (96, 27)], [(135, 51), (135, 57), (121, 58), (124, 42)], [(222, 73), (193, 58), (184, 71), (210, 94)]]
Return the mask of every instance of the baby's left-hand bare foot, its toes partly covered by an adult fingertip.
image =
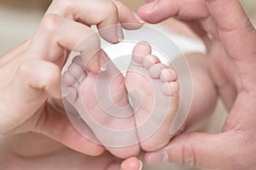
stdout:
[(140, 148), (124, 77), (107, 54), (102, 56), (107, 70), (99, 74), (84, 69), (80, 56), (73, 59), (64, 74), (66, 99), (114, 156), (136, 156)]

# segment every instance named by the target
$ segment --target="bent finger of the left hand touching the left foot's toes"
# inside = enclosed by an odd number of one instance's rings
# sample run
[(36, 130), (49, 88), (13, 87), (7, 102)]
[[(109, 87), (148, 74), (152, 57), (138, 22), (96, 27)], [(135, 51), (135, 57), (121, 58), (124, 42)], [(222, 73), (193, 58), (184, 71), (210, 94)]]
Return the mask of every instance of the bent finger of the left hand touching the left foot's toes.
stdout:
[(100, 39), (96, 31), (57, 14), (45, 15), (32, 37), (27, 54), (53, 61), (61, 67), (63, 59), (60, 56), (64, 49), (79, 51), (90, 71), (100, 71)]

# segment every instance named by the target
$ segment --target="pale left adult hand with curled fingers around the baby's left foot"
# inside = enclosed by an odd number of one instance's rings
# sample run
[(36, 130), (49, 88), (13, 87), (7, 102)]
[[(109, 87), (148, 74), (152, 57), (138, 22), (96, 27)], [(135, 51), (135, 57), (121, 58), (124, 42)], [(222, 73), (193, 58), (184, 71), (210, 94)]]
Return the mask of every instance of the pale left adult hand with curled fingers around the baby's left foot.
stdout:
[[(119, 11), (122, 14), (119, 14)], [(55, 0), (35, 34), (6, 54), (0, 56), (0, 134), (34, 131), (66, 144), (73, 150), (96, 156), (102, 146), (80, 135), (68, 121), (61, 105), (61, 69), (65, 51), (71, 51), (98, 28), (108, 27), (100, 34), (108, 42), (119, 42), (119, 22), (142, 24), (122, 3), (96, 0)], [(114, 25), (114, 26), (112, 26)], [(135, 27), (133, 27), (135, 28)], [(96, 35), (96, 34), (95, 34)], [(84, 48), (83, 48), (84, 47)], [(90, 37), (79, 52), (90, 71), (99, 71), (99, 37)], [(67, 52), (68, 53), (68, 52)]]

